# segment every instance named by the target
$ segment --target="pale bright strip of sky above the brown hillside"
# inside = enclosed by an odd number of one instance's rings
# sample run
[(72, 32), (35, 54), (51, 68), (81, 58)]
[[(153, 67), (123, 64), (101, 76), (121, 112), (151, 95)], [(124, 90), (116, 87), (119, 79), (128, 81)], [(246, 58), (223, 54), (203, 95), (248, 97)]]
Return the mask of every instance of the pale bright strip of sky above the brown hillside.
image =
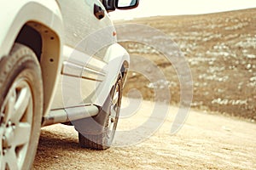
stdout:
[(131, 20), (156, 15), (208, 14), (256, 8), (256, 0), (140, 0), (137, 8), (110, 13), (113, 20)]

